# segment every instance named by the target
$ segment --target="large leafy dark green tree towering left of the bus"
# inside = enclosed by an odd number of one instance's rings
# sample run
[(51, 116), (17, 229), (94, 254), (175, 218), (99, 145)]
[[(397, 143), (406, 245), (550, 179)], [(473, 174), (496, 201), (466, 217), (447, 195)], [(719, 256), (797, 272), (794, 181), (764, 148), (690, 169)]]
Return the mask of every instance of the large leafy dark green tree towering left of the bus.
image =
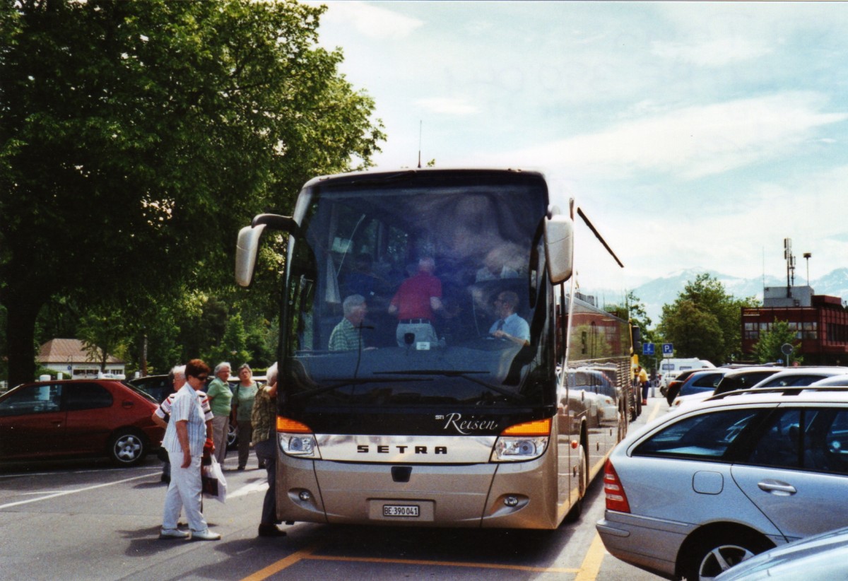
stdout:
[(252, 215), (370, 165), (382, 124), (338, 73), (341, 51), (316, 46), (325, 9), (0, 0), (10, 383), (31, 379), (53, 297), (149, 312), (149, 297), (230, 282)]

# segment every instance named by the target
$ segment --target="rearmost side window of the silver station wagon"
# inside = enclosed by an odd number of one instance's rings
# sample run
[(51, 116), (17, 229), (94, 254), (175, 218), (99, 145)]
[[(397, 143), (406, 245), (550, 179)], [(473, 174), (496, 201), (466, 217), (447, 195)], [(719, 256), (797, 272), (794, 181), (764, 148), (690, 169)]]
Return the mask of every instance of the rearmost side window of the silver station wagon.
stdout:
[(759, 410), (722, 410), (681, 418), (645, 440), (633, 455), (720, 460)]

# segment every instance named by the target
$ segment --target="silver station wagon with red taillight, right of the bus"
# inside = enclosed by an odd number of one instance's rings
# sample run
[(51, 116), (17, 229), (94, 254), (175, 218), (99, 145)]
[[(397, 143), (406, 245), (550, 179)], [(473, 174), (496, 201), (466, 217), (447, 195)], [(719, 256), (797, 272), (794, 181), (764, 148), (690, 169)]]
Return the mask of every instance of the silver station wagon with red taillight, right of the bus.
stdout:
[(714, 578), (848, 522), (848, 388), (750, 389), (661, 416), (605, 466), (606, 550), (665, 578)]

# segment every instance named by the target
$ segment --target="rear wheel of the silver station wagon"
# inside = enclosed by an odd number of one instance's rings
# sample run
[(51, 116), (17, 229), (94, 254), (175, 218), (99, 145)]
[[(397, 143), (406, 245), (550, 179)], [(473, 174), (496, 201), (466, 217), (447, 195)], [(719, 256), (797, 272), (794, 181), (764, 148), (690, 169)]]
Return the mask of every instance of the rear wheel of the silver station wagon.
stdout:
[(689, 553), (683, 567), (683, 578), (703, 581), (716, 578), (730, 567), (771, 549), (767, 539), (756, 533), (741, 531), (712, 534), (711, 540), (702, 540)]

